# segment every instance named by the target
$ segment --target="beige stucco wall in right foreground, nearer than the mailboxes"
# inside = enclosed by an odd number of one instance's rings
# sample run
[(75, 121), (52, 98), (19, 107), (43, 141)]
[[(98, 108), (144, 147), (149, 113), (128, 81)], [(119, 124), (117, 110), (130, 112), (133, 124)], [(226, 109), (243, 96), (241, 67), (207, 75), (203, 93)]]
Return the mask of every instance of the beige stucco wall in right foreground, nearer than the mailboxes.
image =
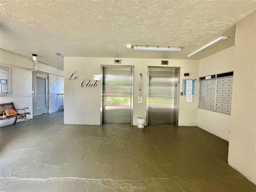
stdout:
[(236, 27), (228, 164), (256, 184), (256, 11)]

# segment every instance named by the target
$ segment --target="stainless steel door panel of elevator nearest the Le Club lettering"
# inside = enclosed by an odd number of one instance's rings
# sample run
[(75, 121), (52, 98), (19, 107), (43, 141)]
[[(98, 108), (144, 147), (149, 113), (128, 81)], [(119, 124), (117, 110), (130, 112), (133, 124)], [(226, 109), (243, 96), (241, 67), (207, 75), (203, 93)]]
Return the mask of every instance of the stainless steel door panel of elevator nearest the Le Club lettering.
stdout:
[(103, 123), (131, 123), (132, 68), (103, 68)]

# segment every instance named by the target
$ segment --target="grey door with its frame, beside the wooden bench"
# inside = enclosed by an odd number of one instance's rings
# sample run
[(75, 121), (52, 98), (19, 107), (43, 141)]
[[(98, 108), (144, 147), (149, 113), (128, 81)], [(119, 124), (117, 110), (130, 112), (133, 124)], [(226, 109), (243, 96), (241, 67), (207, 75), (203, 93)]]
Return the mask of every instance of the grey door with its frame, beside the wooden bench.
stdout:
[(49, 112), (48, 75), (33, 72), (33, 117)]

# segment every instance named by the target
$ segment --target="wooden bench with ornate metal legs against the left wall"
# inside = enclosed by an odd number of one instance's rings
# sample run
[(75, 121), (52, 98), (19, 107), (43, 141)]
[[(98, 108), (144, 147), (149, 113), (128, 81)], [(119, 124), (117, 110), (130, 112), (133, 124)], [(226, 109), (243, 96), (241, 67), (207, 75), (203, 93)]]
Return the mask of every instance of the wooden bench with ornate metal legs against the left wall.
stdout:
[[(16, 109), (13, 102), (11, 103), (4, 103), (4, 104), (0, 104), (0, 115), (2, 116), (3, 115), (3, 112), (6, 110), (6, 109), (13, 109), (15, 110), (17, 113), (19, 110), (21, 111), (24, 111), (24, 113), (18, 113), (14, 116), (9, 116), (9, 117), (6, 117), (6, 118), (0, 118), (0, 120), (5, 120), (5, 119), (10, 119), (10, 118), (14, 118), (15, 117), (15, 121), (14, 121), (14, 125), (16, 124), (16, 121), (18, 119), (25, 119), (27, 124), (29, 125), (28, 123), (28, 119), (26, 117), (26, 115), (30, 115), (30, 112), (26, 112), (26, 109), (28, 109), (27, 107), (26, 108), (23, 108), (23, 109)], [(6, 115), (6, 114), (5, 114)]]

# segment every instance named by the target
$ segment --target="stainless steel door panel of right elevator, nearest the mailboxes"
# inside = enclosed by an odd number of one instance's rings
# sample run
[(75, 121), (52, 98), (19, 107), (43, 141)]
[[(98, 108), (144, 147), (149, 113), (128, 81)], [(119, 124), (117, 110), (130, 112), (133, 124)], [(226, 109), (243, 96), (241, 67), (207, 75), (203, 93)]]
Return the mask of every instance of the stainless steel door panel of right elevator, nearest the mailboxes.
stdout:
[(175, 69), (149, 70), (148, 124), (172, 124)]

